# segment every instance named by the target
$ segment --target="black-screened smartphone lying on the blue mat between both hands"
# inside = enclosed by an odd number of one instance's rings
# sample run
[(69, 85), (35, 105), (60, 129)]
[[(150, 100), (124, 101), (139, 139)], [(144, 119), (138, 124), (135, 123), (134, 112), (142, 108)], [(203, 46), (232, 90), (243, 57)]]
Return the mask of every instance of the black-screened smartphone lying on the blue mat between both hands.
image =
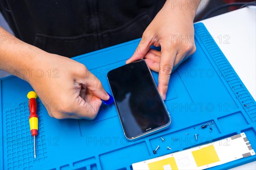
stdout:
[(127, 139), (138, 139), (170, 125), (169, 112), (144, 59), (109, 71), (108, 82)]

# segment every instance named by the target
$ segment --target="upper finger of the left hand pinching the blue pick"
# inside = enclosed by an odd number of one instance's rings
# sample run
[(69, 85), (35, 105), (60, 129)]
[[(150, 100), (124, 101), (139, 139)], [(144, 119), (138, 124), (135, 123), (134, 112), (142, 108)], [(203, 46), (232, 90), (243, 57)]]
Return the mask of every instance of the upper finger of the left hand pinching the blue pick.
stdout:
[(103, 100), (108, 100), (109, 95), (102, 86), (99, 79), (88, 71), (87, 79), (85, 79), (84, 85), (87, 89), (90, 89), (92, 93)]

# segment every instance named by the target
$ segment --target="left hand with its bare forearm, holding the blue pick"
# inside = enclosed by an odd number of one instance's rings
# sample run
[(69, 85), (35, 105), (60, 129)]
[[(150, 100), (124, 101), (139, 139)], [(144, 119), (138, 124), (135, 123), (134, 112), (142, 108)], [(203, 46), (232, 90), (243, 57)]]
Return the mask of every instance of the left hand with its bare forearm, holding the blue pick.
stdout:
[(0, 69), (29, 82), (50, 116), (94, 119), (101, 99), (109, 99), (99, 79), (83, 64), (22, 42), (1, 27), (0, 40)]

